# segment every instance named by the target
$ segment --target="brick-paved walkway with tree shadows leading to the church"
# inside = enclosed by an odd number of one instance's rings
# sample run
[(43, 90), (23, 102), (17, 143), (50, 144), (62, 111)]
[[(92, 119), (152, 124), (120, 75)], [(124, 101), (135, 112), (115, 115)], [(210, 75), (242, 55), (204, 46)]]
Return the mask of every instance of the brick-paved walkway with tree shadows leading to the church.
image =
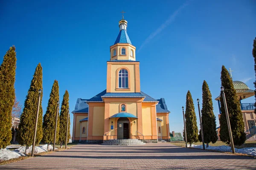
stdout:
[(0, 169), (256, 169), (256, 159), (177, 147), (79, 144), (71, 149), (0, 166)]

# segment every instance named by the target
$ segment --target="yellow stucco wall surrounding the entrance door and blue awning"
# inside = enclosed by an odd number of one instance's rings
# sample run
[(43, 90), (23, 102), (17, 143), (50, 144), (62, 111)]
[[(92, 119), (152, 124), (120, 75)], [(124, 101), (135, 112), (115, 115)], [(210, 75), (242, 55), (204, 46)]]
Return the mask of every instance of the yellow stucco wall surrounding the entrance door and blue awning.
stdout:
[[(126, 111), (127, 113), (131, 113), (134, 116), (137, 116), (137, 103), (135, 102), (111, 102), (110, 106), (109, 106), (109, 117), (113, 116), (116, 113), (119, 113), (119, 105), (120, 104), (126, 104)], [(111, 131), (111, 135), (116, 135), (115, 134), (115, 129), (117, 128), (117, 125), (115, 125), (115, 119), (116, 118), (111, 118), (110, 122), (109, 122), (109, 130), (111, 130), (111, 122), (113, 121), (113, 127), (114, 129)], [(135, 125), (134, 125), (134, 121), (135, 121)], [(136, 135), (136, 130), (137, 130), (137, 119), (132, 119), (132, 131), (131, 131), (131, 135)], [(110, 134), (108, 134), (110, 135)]]

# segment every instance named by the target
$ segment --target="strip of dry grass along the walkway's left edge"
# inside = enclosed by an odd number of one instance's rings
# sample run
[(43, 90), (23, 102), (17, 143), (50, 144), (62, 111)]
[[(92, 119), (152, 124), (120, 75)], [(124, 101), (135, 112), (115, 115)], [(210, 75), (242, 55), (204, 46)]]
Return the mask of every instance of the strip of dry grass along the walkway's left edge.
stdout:
[[(41, 146), (42, 144), (37, 144), (36, 146)], [(74, 143), (71, 143), (71, 144), (67, 144), (67, 149), (70, 149), (71, 147), (75, 146), (76, 144)], [(48, 152), (42, 152), (42, 153), (38, 153), (38, 154), (35, 154), (35, 156), (42, 156), (42, 155), (47, 155), (49, 153), (54, 153), (54, 152), (61, 152), (63, 150), (66, 150), (65, 149), (65, 145), (63, 145), (63, 148), (60, 148), (60, 145), (59, 144), (56, 144), (55, 147), (57, 147), (58, 149), (55, 150), (55, 151), (48, 151)], [(27, 155), (27, 156), (20, 156), (18, 158), (14, 158), (14, 159), (9, 159), (9, 160), (6, 160), (6, 161), (0, 161), (0, 165), (3, 165), (3, 164), (10, 164), (12, 162), (17, 162), (17, 161), (21, 161), (23, 159), (29, 159), (29, 158), (32, 158), (31, 155)]]

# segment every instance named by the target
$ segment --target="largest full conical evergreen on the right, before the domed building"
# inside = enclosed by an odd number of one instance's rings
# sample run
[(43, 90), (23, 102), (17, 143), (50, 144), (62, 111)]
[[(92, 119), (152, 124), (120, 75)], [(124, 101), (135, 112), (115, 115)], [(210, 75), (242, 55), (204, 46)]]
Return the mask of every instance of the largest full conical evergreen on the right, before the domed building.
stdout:
[[(244, 120), (241, 112), (241, 106), (236, 96), (236, 90), (233, 81), (227, 69), (222, 66), (221, 69), (221, 85), (224, 87), (224, 93), (227, 101), (227, 110), (230, 118), (230, 127), (232, 130), (233, 141), (235, 145), (241, 145), (245, 142), (246, 137), (244, 133)], [(224, 108), (222, 95), (221, 102), (221, 116), (220, 116), (220, 138), (222, 142), (230, 144), (230, 137), (227, 128), (227, 118)]]

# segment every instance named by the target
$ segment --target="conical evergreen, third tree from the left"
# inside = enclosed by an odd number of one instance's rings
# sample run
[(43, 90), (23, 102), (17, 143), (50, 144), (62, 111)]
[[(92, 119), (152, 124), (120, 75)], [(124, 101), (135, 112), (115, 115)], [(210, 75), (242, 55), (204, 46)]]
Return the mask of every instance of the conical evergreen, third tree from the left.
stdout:
[[(44, 132), (43, 141), (48, 144), (48, 147), (47, 147), (48, 150), (49, 150), (50, 142), (54, 141), (55, 121), (56, 121), (58, 101), (59, 101), (58, 81), (54, 80), (54, 83), (52, 85), (52, 91), (48, 101), (47, 110), (44, 115), (44, 122), (43, 122), (43, 132)], [(56, 141), (58, 141), (58, 137), (59, 137), (59, 113), (58, 113), (58, 122), (57, 122)]]

